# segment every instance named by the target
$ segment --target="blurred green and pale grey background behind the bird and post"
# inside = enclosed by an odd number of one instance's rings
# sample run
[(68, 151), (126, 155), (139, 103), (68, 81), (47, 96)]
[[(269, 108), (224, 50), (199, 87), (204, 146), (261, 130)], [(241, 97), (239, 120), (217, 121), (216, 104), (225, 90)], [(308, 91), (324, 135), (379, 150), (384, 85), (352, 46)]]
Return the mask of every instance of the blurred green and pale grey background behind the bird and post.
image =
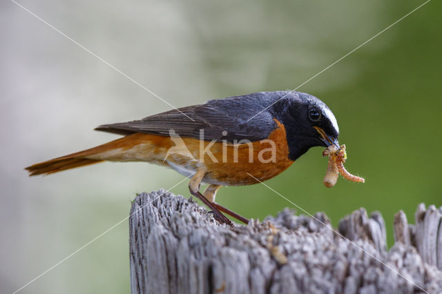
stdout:
[[(423, 1), (20, 1), (173, 106), (302, 84)], [(37, 161), (117, 136), (99, 124), (170, 107), (10, 1), (0, 4), (0, 285), (11, 293), (128, 216), (135, 193), (183, 179), (142, 163), (28, 178)], [(442, 21), (430, 1), (299, 90), (325, 101), (366, 184), (322, 184), (313, 148), (266, 184), (309, 213), (360, 207), (392, 218), (442, 205)], [(184, 182), (172, 190), (188, 196)], [(292, 207), (262, 185), (222, 188), (218, 202), (263, 219)], [(128, 293), (123, 222), (21, 293)]]

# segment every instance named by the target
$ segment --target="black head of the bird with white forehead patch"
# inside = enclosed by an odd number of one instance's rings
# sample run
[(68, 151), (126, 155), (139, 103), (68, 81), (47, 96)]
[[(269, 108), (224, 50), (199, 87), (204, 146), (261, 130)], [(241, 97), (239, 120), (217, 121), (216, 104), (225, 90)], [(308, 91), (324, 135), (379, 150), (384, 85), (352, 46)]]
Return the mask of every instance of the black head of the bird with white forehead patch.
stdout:
[(314, 146), (338, 145), (339, 128), (333, 112), (320, 99), (293, 92), (275, 104), (275, 111), (285, 126), (289, 158), (298, 159)]

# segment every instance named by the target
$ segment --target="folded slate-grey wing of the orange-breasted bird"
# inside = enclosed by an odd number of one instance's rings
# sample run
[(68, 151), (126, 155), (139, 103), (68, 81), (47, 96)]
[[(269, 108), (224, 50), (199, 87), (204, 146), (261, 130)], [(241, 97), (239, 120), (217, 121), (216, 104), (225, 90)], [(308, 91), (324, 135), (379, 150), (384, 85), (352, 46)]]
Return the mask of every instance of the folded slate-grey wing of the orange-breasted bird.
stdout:
[(229, 143), (242, 139), (259, 141), (267, 138), (276, 128), (269, 110), (262, 110), (284, 93), (258, 92), (209, 100), (205, 104), (179, 108), (180, 111), (174, 109), (136, 121), (105, 124), (95, 130), (120, 135), (147, 133), (166, 136), (169, 136), (170, 130), (174, 130), (177, 135), (196, 139), (226, 140)]

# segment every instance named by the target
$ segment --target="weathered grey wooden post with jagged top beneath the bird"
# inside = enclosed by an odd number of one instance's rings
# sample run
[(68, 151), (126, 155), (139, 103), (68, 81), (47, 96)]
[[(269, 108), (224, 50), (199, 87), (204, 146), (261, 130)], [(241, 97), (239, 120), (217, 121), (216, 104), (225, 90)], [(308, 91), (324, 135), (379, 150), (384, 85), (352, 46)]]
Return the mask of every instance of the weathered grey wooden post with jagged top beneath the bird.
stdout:
[(137, 195), (132, 293), (442, 293), (441, 208), (420, 204), (414, 226), (396, 214), (390, 251), (380, 213), (361, 208), (338, 229), (315, 217), (286, 208), (229, 227), (182, 196)]

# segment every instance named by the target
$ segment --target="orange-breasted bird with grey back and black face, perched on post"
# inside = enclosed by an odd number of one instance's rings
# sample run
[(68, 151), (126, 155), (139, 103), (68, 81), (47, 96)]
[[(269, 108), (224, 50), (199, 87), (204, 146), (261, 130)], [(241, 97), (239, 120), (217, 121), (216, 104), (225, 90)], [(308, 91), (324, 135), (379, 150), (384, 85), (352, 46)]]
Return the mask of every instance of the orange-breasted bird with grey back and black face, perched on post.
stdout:
[[(30, 176), (103, 161), (146, 161), (189, 177), (192, 195), (221, 224), (222, 212), (248, 219), (215, 202), (222, 186), (244, 186), (279, 175), (314, 146), (339, 147), (332, 110), (304, 92), (272, 91), (211, 99), (95, 130), (122, 135), (87, 150), (25, 168)], [(208, 184), (204, 193), (200, 185)]]

